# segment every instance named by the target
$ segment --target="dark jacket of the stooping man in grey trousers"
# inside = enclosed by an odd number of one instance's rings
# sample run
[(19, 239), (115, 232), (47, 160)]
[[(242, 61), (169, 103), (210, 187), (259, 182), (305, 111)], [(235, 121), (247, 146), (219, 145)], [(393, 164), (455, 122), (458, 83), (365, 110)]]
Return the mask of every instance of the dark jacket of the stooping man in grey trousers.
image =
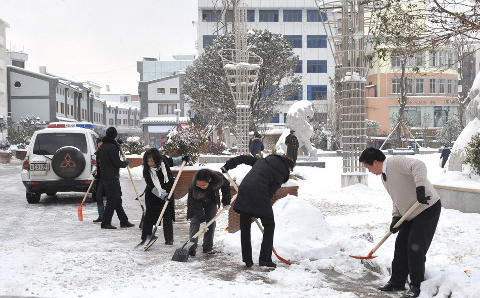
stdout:
[(211, 169), (208, 169), (208, 171), (210, 172), (212, 180), (205, 190), (197, 186), (198, 172), (191, 179), (190, 187), (188, 188), (186, 219), (190, 219), (193, 216), (198, 216), (201, 222), (205, 221), (207, 216), (205, 215), (203, 204), (207, 202), (208, 194), (211, 191), (213, 192), (217, 206), (220, 206), (220, 194), (218, 193), (219, 190), (222, 192), (222, 205), (230, 205), (230, 182), (227, 178), (225, 178), (224, 175), (222, 175), (222, 173)]

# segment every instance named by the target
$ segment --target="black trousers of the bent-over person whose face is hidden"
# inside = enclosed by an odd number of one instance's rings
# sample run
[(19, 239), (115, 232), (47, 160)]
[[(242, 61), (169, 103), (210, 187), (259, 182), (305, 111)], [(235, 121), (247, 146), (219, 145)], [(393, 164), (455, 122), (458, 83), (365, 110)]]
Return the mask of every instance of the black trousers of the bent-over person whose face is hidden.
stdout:
[(240, 212), (240, 242), (242, 244), (242, 261), (252, 262), (251, 228), (252, 217), (260, 218), (263, 225), (263, 239), (260, 247), (259, 261), (271, 262), (273, 250), (273, 232), (275, 231), (275, 220), (270, 216), (258, 216), (255, 214)]

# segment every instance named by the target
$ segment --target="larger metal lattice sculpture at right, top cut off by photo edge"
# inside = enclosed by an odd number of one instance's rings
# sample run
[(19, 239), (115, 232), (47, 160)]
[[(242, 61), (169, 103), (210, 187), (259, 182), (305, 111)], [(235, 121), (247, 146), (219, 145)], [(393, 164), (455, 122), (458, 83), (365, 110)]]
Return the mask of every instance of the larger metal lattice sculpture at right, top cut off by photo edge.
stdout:
[(371, 63), (366, 39), (371, 25), (370, 9), (363, 0), (315, 0), (323, 16), (337, 75), (342, 84), (343, 170), (365, 172), (358, 158), (366, 148), (365, 81)]

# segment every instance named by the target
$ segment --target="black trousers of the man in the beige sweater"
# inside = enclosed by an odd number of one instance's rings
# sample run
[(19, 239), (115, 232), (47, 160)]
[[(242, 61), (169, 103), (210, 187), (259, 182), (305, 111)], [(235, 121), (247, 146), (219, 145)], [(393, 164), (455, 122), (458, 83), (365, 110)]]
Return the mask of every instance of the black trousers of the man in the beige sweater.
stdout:
[(426, 253), (437, 229), (441, 209), (439, 200), (412, 220), (402, 223), (395, 241), (390, 281), (404, 285), (408, 274), (411, 285), (420, 286), (425, 280)]

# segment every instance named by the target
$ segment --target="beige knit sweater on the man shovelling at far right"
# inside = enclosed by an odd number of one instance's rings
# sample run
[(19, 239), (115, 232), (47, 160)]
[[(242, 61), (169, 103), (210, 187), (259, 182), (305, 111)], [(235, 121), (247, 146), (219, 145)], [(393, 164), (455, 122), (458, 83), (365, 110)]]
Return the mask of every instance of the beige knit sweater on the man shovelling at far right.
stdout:
[(390, 156), (387, 159), (387, 181), (383, 185), (392, 197), (392, 216), (403, 216), (417, 201), (416, 187), (425, 187), (425, 196), (430, 196), (429, 205), (421, 204), (407, 217), (413, 219), (423, 210), (434, 205), (440, 197), (426, 178), (425, 163), (419, 159), (403, 155)]

